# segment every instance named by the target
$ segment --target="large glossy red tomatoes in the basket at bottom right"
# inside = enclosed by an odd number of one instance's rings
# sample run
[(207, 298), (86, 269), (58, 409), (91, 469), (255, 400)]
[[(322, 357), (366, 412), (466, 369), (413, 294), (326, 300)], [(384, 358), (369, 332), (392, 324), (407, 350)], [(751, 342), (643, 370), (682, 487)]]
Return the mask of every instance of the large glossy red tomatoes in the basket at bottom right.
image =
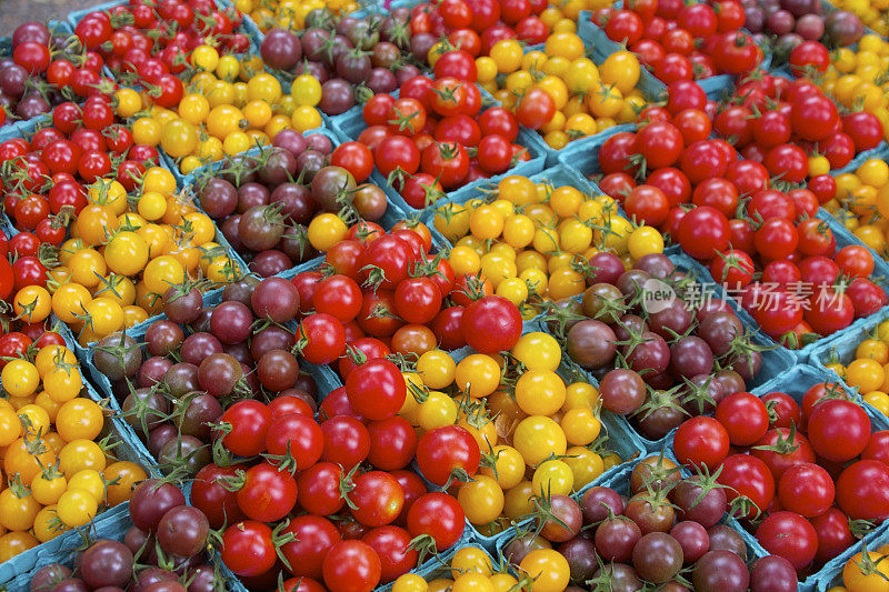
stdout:
[(693, 418), (676, 432), (679, 461), (720, 470), (718, 482), (739, 518), (765, 518), (760, 544), (798, 572), (856, 544), (850, 521), (889, 518), (889, 432), (871, 433), (865, 410), (833, 383), (799, 399), (749, 392), (719, 402), (715, 418)]

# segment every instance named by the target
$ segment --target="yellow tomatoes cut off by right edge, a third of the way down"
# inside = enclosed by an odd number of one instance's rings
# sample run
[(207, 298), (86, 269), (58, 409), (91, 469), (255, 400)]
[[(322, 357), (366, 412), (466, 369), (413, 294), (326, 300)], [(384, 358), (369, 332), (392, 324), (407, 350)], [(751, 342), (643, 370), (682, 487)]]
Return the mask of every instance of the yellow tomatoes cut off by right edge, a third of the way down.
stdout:
[(837, 197), (825, 209), (861, 241), (886, 252), (889, 237), (889, 164), (869, 159), (855, 172), (837, 175)]

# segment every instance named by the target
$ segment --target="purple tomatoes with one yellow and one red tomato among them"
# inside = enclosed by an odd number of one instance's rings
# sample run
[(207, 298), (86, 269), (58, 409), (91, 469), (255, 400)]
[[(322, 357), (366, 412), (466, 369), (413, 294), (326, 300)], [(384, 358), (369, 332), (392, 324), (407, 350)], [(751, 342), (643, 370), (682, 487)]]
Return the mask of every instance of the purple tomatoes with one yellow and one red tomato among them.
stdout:
[(362, 148), (333, 150), (327, 136), (283, 130), (272, 148), (200, 175), (198, 201), (251, 271), (276, 275), (380, 229), (388, 204), (381, 188), (363, 182), (372, 164)]

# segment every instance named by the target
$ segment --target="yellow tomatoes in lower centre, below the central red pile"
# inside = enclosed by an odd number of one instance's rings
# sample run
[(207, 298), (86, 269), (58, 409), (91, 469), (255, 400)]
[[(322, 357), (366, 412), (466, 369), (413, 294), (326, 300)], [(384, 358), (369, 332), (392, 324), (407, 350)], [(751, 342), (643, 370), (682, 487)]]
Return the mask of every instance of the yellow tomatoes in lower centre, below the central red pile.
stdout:
[(399, 412), (420, 431), (456, 423), (472, 434), (486, 462), (457, 499), (490, 533), (532, 512), (535, 499), (568, 495), (620, 462), (592, 450), (602, 431), (599, 393), (557, 372), (555, 338), (527, 333), (510, 354), (457, 362), (441, 350), (422, 353), (406, 374), (412, 397)]

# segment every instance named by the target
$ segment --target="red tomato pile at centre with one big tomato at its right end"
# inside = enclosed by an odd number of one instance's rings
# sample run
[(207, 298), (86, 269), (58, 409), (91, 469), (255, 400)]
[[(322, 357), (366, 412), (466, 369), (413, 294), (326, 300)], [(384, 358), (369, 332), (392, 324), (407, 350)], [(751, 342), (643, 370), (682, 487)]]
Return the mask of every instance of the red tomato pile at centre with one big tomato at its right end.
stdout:
[[(446, 258), (431, 253), (426, 227), (401, 222), (386, 233), (379, 227), (371, 231), (371, 224), (363, 223), (363, 239), (328, 251), (333, 274), (303, 271), (292, 280), (307, 315), (298, 338), (309, 362), (337, 362), (348, 380), (356, 357), (420, 355), (467, 344), (487, 353), (516, 344), (521, 335), (516, 305), (491, 295), (485, 278), (456, 277)], [(343, 357), (347, 348), (351, 354)], [(331, 399), (327, 404), (336, 404)]]

